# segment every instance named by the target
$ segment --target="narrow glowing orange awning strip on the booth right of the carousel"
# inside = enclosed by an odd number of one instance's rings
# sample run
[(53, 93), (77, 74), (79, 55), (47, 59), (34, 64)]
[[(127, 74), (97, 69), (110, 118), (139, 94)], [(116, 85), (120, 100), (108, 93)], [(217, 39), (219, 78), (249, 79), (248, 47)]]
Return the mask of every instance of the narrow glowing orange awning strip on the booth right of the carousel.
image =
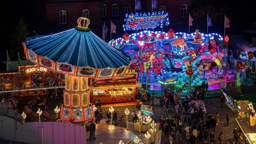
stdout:
[(124, 82), (124, 83), (108, 83), (108, 84), (97, 84), (97, 86), (89, 85), (89, 89), (99, 89), (99, 88), (116, 88), (116, 87), (140, 87), (139, 82)]

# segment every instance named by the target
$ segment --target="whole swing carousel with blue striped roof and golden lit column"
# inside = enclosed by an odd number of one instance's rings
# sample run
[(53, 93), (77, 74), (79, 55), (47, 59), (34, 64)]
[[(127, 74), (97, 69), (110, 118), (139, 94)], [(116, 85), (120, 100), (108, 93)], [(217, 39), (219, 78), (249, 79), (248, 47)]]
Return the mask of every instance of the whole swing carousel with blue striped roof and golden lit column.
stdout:
[(49, 35), (35, 35), (22, 44), (26, 58), (38, 66), (65, 74), (60, 118), (86, 121), (94, 117), (88, 83), (96, 78), (123, 76), (132, 63), (88, 28), (79, 17), (74, 28)]

